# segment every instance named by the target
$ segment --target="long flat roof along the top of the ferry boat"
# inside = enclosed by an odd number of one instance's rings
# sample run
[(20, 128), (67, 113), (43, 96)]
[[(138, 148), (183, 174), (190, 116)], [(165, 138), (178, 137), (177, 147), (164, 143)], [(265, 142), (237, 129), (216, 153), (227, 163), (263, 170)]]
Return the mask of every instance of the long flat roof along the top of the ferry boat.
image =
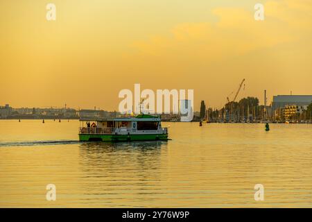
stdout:
[(138, 114), (136, 117), (80, 117), (79, 121), (160, 121), (160, 117), (151, 114)]

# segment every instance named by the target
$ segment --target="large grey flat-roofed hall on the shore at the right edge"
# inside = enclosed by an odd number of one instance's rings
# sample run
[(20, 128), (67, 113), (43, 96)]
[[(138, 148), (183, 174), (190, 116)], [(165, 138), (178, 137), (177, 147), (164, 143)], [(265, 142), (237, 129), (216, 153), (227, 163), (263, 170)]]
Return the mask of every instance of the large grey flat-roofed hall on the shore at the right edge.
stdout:
[(286, 105), (310, 105), (312, 103), (312, 95), (278, 95), (273, 96), (272, 112), (275, 110), (284, 108)]

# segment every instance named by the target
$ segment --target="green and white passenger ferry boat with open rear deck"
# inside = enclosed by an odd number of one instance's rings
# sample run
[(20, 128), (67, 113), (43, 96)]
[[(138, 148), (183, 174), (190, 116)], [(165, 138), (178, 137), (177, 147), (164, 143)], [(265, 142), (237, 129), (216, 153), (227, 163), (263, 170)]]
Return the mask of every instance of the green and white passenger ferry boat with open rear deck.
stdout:
[(103, 142), (168, 140), (168, 128), (162, 128), (160, 117), (150, 114), (112, 119), (80, 118), (79, 140)]

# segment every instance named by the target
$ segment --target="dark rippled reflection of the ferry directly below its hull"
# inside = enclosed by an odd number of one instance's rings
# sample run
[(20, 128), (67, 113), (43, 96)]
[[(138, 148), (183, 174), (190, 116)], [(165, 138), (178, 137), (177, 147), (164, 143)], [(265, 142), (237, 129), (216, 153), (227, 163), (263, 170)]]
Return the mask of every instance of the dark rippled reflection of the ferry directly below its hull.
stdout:
[[(114, 176), (119, 170), (156, 170), (167, 142), (125, 142), (80, 144), (79, 162), (82, 171), (96, 169), (97, 176)], [(86, 177), (90, 177), (88, 174)]]

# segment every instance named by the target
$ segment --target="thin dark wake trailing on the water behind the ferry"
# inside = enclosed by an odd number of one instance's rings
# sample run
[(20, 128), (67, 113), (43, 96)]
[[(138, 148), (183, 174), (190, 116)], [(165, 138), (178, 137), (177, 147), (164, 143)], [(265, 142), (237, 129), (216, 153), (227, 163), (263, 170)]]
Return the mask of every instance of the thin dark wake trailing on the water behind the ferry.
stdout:
[(48, 146), (61, 144), (78, 144), (78, 140), (46, 140), (46, 141), (24, 141), (24, 142), (0, 142), (1, 146)]

